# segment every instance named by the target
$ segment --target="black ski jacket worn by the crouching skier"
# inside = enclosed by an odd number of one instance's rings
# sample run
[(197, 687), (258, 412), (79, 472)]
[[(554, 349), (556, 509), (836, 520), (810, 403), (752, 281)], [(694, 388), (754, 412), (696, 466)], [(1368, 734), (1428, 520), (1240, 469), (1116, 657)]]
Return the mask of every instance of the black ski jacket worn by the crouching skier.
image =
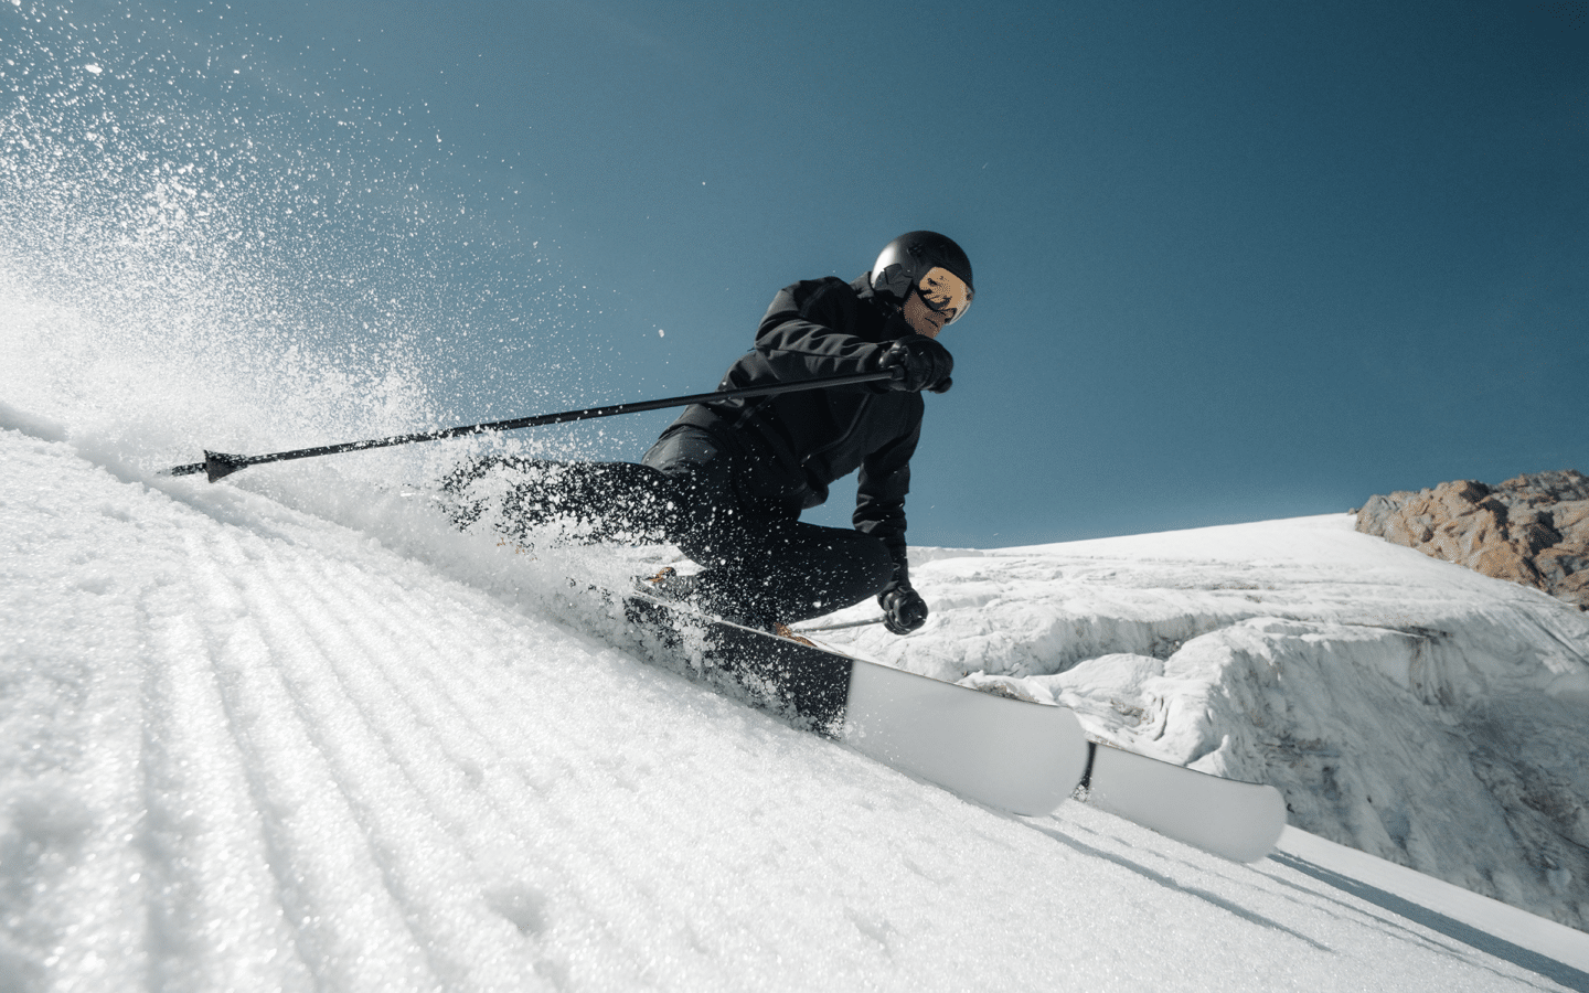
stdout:
[[(871, 273), (785, 286), (718, 389), (872, 372), (895, 340), (915, 334), (872, 297)], [(888, 545), (895, 580), (906, 580), (904, 497), (922, 437), (922, 394), (882, 383), (694, 404), (674, 421), (710, 431), (748, 456), (755, 499), (815, 507), (828, 485), (861, 470), (855, 527)], [(669, 427), (672, 431), (672, 427)], [(906, 580), (907, 582), (907, 580)]]

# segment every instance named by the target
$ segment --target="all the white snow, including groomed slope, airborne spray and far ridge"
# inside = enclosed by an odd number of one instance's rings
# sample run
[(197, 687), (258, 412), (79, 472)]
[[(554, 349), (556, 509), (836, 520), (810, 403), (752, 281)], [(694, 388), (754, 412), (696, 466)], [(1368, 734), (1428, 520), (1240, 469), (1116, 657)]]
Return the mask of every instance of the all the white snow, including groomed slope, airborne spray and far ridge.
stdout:
[(917, 548), (926, 629), (823, 636), (1274, 783), (1244, 866), (640, 663), (567, 578), (672, 553), (516, 550), (394, 486), (480, 443), (157, 475), (454, 424), (461, 383), (547, 410), (556, 321), (459, 327), (569, 297), (448, 241), (362, 111), (327, 140), (211, 92), (202, 38), (35, 6), (0, 114), (5, 993), (1589, 990), (1584, 618), (1344, 515)]

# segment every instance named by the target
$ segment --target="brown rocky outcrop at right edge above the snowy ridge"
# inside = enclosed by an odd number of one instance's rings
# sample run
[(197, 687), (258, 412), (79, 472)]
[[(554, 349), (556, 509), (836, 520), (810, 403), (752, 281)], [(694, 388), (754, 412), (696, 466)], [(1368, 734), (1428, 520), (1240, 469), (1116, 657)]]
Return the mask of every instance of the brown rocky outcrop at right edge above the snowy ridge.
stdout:
[(1376, 496), (1357, 529), (1589, 610), (1589, 477), (1573, 469)]

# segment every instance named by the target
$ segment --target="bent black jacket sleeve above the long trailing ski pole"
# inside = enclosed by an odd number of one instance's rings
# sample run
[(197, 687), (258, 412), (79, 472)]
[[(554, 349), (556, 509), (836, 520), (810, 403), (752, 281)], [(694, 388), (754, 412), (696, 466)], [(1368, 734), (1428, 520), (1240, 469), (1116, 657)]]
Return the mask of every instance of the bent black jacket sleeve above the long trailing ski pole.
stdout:
[(887, 343), (853, 332), (861, 302), (841, 280), (785, 286), (756, 329), (756, 351), (780, 381), (872, 372)]

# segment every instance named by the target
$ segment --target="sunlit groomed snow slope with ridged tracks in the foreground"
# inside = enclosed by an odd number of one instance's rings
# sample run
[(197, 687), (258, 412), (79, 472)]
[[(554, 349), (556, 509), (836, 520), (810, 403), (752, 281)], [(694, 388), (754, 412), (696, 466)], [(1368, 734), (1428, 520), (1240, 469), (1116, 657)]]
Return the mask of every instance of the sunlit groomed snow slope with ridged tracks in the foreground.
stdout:
[(0, 427), (6, 990), (1584, 985), (1581, 936), (1306, 836), (1238, 866), (966, 804), (553, 623), (567, 562), (331, 470), (207, 486)]

